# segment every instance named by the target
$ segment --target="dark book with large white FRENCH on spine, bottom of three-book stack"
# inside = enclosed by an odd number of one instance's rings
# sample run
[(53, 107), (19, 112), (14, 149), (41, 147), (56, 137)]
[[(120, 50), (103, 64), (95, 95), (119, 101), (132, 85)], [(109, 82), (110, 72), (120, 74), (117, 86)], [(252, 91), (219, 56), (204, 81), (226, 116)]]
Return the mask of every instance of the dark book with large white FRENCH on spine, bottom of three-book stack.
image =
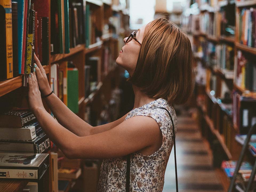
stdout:
[(51, 141), (43, 132), (32, 140), (0, 140), (0, 151), (45, 153), (51, 149)]

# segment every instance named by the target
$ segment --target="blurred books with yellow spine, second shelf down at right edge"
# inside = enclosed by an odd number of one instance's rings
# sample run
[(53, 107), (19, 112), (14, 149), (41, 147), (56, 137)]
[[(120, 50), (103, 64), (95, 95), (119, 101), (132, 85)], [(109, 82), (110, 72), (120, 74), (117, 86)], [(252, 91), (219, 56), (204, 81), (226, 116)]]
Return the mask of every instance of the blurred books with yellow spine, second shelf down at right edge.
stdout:
[(256, 65), (252, 55), (245, 55), (237, 51), (237, 68), (235, 70), (235, 84), (242, 89), (256, 91)]

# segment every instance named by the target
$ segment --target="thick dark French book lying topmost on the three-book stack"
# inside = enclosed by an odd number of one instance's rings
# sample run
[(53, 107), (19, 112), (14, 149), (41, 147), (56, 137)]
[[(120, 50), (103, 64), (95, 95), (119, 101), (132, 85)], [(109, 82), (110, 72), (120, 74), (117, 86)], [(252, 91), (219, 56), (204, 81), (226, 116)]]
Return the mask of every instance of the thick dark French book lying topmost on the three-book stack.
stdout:
[(0, 114), (0, 127), (21, 128), (35, 121), (35, 115), (30, 111), (12, 110)]

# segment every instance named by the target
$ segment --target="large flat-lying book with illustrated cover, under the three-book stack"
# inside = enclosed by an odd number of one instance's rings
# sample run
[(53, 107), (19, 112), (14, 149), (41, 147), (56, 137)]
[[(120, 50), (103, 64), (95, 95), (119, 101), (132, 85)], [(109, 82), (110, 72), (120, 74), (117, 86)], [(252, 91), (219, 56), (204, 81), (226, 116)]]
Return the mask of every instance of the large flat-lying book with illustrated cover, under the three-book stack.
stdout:
[(49, 154), (0, 153), (0, 178), (40, 179), (49, 167)]

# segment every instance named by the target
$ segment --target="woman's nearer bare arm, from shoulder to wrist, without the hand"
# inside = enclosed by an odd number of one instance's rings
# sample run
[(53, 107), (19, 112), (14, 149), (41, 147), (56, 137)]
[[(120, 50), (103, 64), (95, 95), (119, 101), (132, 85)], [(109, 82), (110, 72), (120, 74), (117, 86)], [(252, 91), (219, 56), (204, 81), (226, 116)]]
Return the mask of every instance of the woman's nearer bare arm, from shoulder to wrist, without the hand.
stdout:
[(45, 109), (36, 109), (35, 116), (45, 133), (68, 158), (122, 157), (153, 146), (161, 134), (157, 122), (146, 116), (131, 117), (113, 129), (84, 137), (65, 129)]

